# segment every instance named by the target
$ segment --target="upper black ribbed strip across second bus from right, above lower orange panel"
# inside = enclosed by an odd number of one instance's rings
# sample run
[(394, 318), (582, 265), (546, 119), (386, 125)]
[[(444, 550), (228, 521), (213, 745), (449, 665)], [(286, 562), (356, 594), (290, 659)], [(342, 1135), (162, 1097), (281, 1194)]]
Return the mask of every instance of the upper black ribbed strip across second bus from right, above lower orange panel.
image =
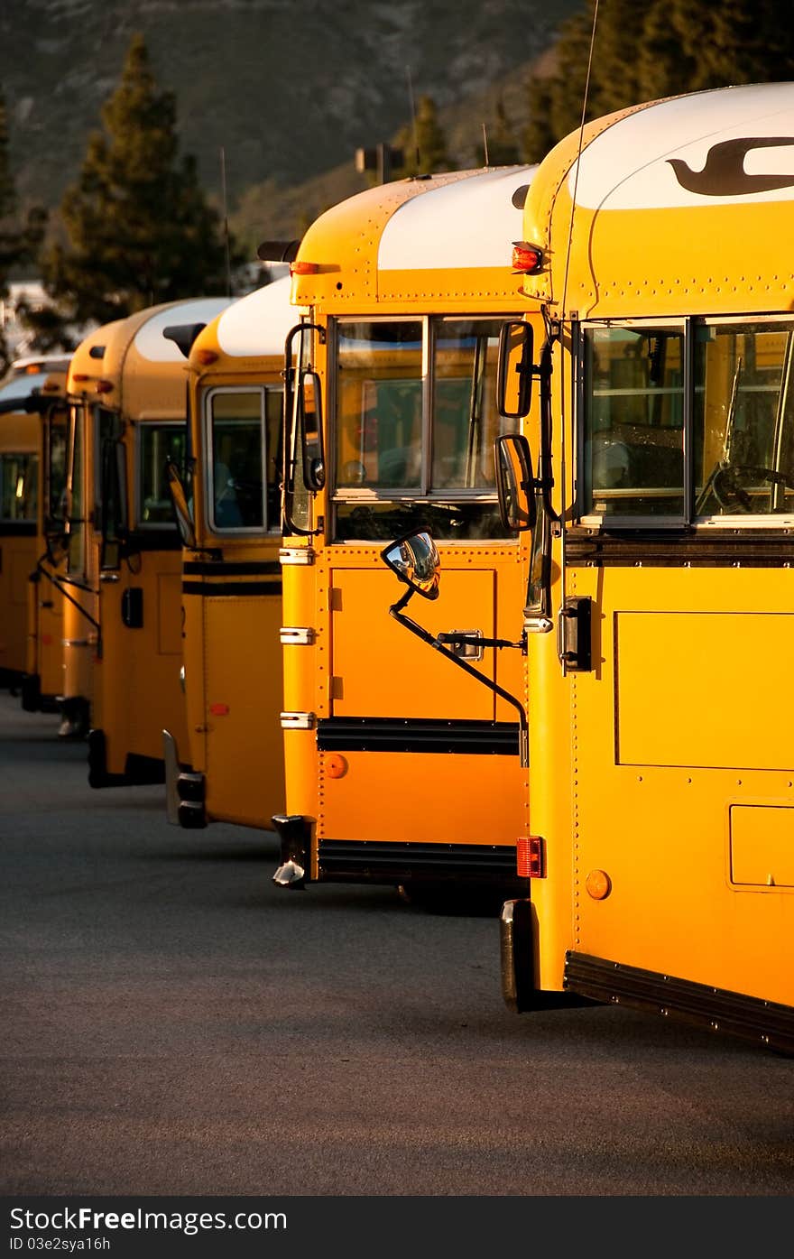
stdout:
[(517, 757), (517, 721), (332, 716), (317, 721), (320, 752), (452, 752)]

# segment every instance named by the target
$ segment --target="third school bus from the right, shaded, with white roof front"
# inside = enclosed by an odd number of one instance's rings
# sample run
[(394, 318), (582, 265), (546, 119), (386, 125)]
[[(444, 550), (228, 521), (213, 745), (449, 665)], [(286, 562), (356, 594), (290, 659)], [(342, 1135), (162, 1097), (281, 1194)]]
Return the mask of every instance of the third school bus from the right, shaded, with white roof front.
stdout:
[(164, 730), (171, 822), (269, 827), (283, 808), (281, 476), (289, 277), (239, 298), (190, 350), (182, 530), (186, 735)]

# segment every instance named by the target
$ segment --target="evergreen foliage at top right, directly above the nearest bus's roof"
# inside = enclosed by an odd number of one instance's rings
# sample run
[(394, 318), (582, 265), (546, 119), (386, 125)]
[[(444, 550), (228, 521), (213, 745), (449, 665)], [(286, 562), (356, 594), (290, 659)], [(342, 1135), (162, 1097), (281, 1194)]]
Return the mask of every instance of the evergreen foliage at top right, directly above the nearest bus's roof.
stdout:
[[(555, 72), (528, 83), (525, 160), (581, 123), (595, 0), (560, 28)], [(790, 0), (600, 0), (586, 120), (643, 101), (794, 79)]]

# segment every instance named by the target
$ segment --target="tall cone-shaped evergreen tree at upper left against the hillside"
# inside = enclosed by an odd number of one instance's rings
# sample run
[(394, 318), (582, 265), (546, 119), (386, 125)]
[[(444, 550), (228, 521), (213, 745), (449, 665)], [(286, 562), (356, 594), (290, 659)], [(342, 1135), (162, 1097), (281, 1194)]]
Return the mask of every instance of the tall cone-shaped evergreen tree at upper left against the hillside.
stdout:
[[(43, 254), (64, 321), (106, 324), (160, 302), (224, 293), (226, 248), (193, 156), (179, 155), (176, 103), (160, 92), (143, 37), (132, 38), (103, 130), (60, 205), (65, 239)], [(240, 262), (230, 243), (235, 264)], [(42, 335), (53, 310), (36, 321)]]

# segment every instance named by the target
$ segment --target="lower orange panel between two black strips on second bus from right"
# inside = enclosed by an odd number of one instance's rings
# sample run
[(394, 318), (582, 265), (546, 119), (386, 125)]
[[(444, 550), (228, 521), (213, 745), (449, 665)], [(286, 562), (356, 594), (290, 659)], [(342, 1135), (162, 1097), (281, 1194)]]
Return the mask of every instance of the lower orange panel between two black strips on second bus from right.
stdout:
[(323, 772), (327, 759), (321, 753), (318, 837), (507, 845), (522, 832), (517, 757), (346, 752), (341, 778)]

